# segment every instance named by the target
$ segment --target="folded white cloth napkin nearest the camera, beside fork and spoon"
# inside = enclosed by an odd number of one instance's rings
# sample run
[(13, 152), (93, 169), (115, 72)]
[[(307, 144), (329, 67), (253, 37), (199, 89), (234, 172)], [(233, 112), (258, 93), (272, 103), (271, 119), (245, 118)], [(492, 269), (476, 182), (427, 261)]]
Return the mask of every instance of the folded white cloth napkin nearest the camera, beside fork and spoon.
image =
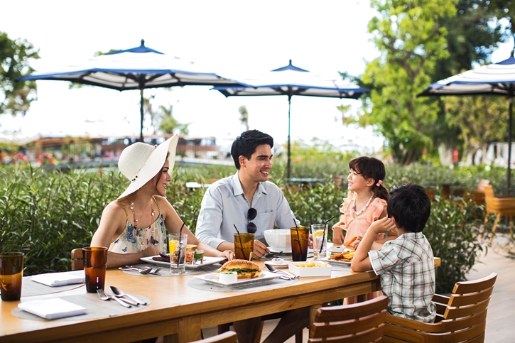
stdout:
[(85, 315), (86, 308), (61, 298), (36, 300), (19, 303), (21, 310), (30, 312), (46, 319), (58, 319), (72, 317), (74, 315)]

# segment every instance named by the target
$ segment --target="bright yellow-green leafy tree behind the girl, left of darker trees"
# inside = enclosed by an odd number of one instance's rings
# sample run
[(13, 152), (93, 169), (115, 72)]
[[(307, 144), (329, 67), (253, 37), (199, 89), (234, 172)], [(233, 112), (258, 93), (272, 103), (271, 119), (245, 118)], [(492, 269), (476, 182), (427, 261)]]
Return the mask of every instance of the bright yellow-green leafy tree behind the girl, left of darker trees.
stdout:
[(438, 105), (416, 95), (430, 84), (436, 62), (448, 57), (448, 30), (440, 18), (455, 16), (457, 0), (372, 0), (379, 16), (369, 32), (381, 52), (367, 65), (363, 82), (371, 85), (362, 125), (372, 124), (402, 164), (412, 163), (431, 146)]

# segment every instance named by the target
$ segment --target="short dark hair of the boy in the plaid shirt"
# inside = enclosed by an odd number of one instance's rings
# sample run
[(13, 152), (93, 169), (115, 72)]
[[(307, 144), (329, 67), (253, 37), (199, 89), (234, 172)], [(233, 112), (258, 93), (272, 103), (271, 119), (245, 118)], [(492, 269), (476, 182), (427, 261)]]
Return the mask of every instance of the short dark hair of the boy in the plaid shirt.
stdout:
[(424, 187), (405, 183), (390, 192), (388, 217), (408, 232), (422, 232), (431, 213), (431, 202)]

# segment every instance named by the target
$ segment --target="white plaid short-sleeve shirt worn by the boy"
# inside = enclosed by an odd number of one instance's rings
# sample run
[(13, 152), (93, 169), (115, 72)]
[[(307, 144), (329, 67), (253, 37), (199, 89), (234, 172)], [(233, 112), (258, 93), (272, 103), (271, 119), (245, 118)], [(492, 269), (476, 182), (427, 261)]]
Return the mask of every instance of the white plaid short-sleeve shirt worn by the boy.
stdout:
[(434, 322), (435, 261), (422, 232), (401, 234), (380, 250), (369, 251), (374, 272), (388, 297), (388, 313), (419, 322)]

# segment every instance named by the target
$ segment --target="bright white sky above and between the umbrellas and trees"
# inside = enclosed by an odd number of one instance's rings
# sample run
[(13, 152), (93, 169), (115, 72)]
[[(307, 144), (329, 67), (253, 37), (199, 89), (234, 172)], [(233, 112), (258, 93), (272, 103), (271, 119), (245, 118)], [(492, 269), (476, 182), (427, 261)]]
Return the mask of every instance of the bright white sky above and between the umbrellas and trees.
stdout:
[[(316, 4), (316, 5), (315, 5)], [(379, 53), (367, 23), (369, 0), (338, 1), (16, 1), (0, 0), (0, 31), (23, 38), (38, 50), (38, 72), (59, 71), (85, 62), (97, 51), (125, 50), (145, 40), (148, 48), (205, 65), (219, 75), (248, 75), (293, 65), (322, 75), (361, 75)], [(513, 45), (511, 45), (513, 46)], [(492, 55), (509, 57), (508, 45)], [(497, 58), (497, 60), (495, 60)], [(139, 91), (102, 87), (68, 89), (68, 82), (37, 81), (38, 100), (25, 116), (0, 116), (0, 132), (124, 136), (139, 135)], [(288, 99), (229, 97), (210, 87), (146, 89), (155, 107), (173, 105), (173, 115), (189, 123), (190, 136), (232, 141), (244, 126), (238, 108), (249, 112), (250, 129), (284, 143)], [(321, 138), (335, 146), (377, 151), (382, 139), (372, 128), (342, 126), (337, 106), (359, 100), (293, 97), (292, 141)], [(148, 134), (150, 131), (143, 131)]]

